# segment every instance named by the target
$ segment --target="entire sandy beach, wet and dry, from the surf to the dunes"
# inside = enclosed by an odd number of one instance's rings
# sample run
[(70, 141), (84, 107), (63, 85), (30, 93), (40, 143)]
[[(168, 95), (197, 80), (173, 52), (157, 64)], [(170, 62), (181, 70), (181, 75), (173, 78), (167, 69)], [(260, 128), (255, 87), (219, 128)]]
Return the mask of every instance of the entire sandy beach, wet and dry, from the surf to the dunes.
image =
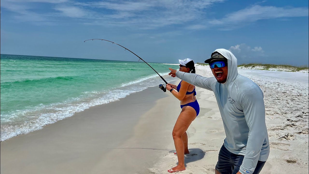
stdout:
[[(307, 173), (308, 73), (238, 71), (264, 93), (271, 149), (261, 173)], [(209, 66), (198, 65), (196, 72), (213, 76)], [(187, 130), (186, 170), (177, 173), (214, 174), (225, 138), (222, 119), (212, 91), (197, 88), (197, 100), (201, 111)], [(0, 171), (168, 173), (177, 163), (171, 133), (180, 111), (179, 101), (169, 92), (150, 87), (2, 141)]]

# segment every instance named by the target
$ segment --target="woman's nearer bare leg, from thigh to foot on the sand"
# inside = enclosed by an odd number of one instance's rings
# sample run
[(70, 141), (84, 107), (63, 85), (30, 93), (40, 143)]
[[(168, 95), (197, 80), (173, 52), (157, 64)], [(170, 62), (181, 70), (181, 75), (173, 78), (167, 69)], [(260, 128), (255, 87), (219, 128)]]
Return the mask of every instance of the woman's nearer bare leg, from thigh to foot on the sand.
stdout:
[[(175, 123), (174, 129), (173, 129), (173, 139), (175, 144), (175, 149), (177, 152), (177, 158), (178, 158), (178, 165), (171, 170), (168, 170), (168, 172), (179, 172), (183, 171), (186, 168), (184, 167), (184, 142), (182, 140), (182, 136), (190, 126), (191, 122), (196, 118), (196, 111), (193, 109), (193, 107), (185, 106), (182, 108), (182, 111), (180, 112), (177, 121)], [(186, 138), (188, 139), (188, 137)], [(187, 142), (188, 143), (188, 142)]]

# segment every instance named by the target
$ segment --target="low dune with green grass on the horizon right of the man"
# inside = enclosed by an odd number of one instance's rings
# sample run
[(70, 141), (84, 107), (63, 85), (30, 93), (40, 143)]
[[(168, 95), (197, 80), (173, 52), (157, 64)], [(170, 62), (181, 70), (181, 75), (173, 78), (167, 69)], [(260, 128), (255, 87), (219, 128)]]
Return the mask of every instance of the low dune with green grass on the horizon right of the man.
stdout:
[(292, 66), (292, 65), (274, 65), (274, 64), (263, 64), (263, 63), (245, 63), (238, 65), (239, 68), (251, 68), (251, 69), (262, 69), (262, 70), (269, 70), (269, 69), (277, 69), (277, 71), (290, 71), (290, 72), (298, 72), (301, 70), (308, 71), (308, 65), (303, 66)]

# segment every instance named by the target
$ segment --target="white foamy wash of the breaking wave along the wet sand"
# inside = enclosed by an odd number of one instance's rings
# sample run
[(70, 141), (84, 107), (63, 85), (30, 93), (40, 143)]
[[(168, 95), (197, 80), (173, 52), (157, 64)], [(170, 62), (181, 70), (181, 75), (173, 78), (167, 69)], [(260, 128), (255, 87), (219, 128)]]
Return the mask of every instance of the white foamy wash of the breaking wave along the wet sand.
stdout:
[[(161, 76), (167, 74), (168, 72), (161, 73)], [(10, 115), (1, 115), (2, 125), (0, 139), (1, 141), (5, 141), (20, 134), (42, 129), (44, 125), (63, 120), (74, 115), (76, 112), (84, 111), (92, 106), (117, 101), (121, 98), (125, 98), (131, 93), (142, 91), (147, 87), (156, 86), (159, 83), (162, 83), (162, 79), (157, 74), (153, 74), (125, 83), (117, 89), (87, 91), (83, 92), (83, 95), (77, 98), (69, 98), (61, 103), (54, 103), (51, 105), (41, 104), (37, 107), (29, 107), (25, 110), (15, 111), (15, 113), (11, 113)], [(25, 120), (20, 120), (20, 118), (24, 118)]]

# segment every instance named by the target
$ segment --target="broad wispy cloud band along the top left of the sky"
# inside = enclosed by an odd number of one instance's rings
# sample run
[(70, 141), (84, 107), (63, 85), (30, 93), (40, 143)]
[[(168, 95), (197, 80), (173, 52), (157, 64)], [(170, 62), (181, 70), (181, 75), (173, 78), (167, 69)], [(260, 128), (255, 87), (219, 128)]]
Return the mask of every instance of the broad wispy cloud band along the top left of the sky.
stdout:
[[(12, 16), (24, 21), (38, 21), (41, 16), (45, 21), (57, 22), (61, 17), (78, 18), (85, 24), (104, 25), (106, 27), (132, 27), (155, 29), (172, 24), (185, 24), (187, 29), (203, 29), (199, 24), (189, 25), (194, 21), (205, 19), (206, 9), (224, 0), (154, 0), (154, 1), (95, 1), (74, 2), (69, 0), (1, 0), (1, 7), (15, 12)], [(39, 4), (49, 3), (48, 13), (38, 8)], [(2, 5), (3, 4), (3, 5)], [(53, 11), (55, 10), (55, 11)], [(20, 14), (37, 15), (33, 18), (21, 17)], [(184, 26), (185, 28), (186, 26)]]

